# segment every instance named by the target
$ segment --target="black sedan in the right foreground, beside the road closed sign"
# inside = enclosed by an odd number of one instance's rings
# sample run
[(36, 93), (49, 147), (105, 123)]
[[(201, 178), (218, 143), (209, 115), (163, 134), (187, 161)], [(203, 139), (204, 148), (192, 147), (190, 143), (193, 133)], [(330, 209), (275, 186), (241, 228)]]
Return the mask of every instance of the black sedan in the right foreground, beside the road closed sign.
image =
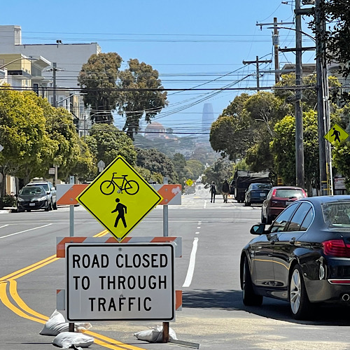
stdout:
[(241, 252), (246, 305), (263, 297), (290, 303), (296, 319), (311, 317), (321, 302), (350, 305), (350, 195), (302, 198), (269, 228), (251, 228)]

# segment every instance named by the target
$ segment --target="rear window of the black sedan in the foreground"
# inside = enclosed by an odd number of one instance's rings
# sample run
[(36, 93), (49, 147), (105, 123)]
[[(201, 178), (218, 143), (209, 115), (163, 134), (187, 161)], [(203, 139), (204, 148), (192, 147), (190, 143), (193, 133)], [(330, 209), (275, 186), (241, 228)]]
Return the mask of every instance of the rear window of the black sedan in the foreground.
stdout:
[(322, 211), (328, 226), (350, 228), (350, 202), (324, 203)]

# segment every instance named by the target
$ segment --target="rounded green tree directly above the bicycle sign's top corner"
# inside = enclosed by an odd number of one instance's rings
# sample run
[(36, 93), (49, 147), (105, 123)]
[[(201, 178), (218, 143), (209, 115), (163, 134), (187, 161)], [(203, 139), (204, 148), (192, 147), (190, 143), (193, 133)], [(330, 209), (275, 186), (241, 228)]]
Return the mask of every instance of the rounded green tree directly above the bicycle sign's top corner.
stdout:
[(118, 155), (121, 155), (130, 165), (136, 164), (137, 153), (132, 140), (114, 125), (99, 123), (92, 125), (87, 144), (94, 158), (109, 165)]

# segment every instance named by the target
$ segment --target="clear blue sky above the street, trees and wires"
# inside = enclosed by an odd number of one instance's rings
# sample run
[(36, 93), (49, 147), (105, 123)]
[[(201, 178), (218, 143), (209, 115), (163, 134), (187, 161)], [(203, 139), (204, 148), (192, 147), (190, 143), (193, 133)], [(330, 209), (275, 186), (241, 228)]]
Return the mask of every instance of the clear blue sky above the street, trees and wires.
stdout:
[[(20, 25), (22, 43), (97, 42), (102, 52), (117, 52), (151, 64), (167, 88), (254, 87), (255, 65), (243, 60), (272, 59), (272, 29), (256, 26), (293, 22), (294, 1), (281, 0), (73, 0), (3, 1), (1, 25)], [(302, 22), (307, 29), (308, 18)], [(293, 27), (286, 25), (285, 27)], [(295, 47), (294, 31), (280, 29), (281, 47)], [(1, 43), (0, 43), (1, 44)], [(304, 45), (313, 43), (304, 38)], [(314, 52), (303, 55), (314, 62)], [(295, 62), (293, 53), (280, 54), (281, 66)], [(125, 67), (125, 66), (124, 66)], [(260, 69), (274, 69), (261, 64)], [(260, 86), (274, 84), (264, 73)], [(200, 131), (204, 103), (213, 105), (217, 118), (230, 102), (245, 92), (169, 92), (169, 106), (155, 120), (178, 132)], [(253, 92), (251, 92), (253, 93)], [(123, 120), (117, 120), (123, 125)]]

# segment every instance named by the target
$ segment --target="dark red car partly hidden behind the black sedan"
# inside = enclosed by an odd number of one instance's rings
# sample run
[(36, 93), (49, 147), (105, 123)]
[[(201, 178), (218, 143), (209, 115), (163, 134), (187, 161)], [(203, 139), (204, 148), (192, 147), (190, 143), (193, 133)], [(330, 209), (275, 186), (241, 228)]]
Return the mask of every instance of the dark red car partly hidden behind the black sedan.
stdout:
[(262, 202), (261, 222), (272, 223), (289, 204), (304, 197), (307, 197), (307, 194), (300, 187), (276, 186), (271, 188), (266, 200)]

